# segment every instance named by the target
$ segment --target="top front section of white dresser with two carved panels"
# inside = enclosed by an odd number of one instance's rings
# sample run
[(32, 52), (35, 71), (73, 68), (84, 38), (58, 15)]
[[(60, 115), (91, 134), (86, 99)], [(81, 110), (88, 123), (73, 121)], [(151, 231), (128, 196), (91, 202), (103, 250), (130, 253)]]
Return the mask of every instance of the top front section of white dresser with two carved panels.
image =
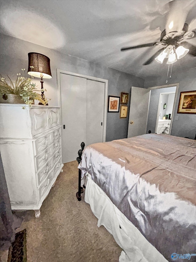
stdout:
[(59, 108), (32, 108), (30, 117), (32, 135), (38, 135), (59, 125)]

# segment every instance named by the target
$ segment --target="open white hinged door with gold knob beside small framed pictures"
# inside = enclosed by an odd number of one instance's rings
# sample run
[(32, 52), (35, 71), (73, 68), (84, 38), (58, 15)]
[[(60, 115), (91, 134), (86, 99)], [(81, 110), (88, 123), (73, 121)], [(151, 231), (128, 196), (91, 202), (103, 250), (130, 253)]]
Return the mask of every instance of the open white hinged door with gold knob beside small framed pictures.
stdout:
[(150, 90), (131, 87), (128, 138), (146, 133)]

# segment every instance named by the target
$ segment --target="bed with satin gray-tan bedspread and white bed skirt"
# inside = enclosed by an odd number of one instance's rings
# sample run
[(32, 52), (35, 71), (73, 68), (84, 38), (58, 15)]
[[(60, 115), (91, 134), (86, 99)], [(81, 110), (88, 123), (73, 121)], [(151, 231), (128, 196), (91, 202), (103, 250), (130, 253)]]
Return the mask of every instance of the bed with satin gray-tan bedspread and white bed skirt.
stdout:
[(96, 143), (78, 168), (98, 226), (123, 248), (119, 261), (196, 259), (195, 140), (146, 134)]

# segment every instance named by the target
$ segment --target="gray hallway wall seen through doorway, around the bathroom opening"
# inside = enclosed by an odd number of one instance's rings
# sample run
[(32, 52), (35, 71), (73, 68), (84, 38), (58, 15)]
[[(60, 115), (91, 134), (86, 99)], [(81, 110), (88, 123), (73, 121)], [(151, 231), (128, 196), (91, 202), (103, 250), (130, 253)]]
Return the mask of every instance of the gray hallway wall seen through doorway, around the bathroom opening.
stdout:
[[(151, 90), (148, 121), (147, 121), (147, 128), (146, 128), (147, 134), (149, 130), (151, 130), (152, 133), (155, 133), (156, 115), (158, 111), (160, 93), (173, 92), (173, 91), (175, 91), (175, 87), (167, 87), (167, 88)], [(164, 110), (166, 115), (166, 109)]]

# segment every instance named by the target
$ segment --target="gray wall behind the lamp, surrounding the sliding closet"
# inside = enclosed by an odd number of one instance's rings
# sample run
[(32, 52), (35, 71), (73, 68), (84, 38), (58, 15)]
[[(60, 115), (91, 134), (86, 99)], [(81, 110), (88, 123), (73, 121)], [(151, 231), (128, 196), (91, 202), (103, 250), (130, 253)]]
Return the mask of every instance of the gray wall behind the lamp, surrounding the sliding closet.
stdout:
[[(56, 69), (66, 70), (87, 76), (94, 76), (108, 80), (108, 95), (120, 96), (121, 92), (129, 93), (128, 111), (130, 106), (131, 86), (144, 87), (144, 80), (112, 68), (105, 68), (78, 57), (59, 53), (53, 49), (35, 45), (14, 37), (0, 35), (0, 71), (3, 76), (8, 74), (16, 79), (16, 74), (21, 68), (28, 68), (28, 53), (36, 52), (48, 56), (51, 60), (52, 79), (44, 80), (44, 88), (47, 89), (46, 96), (52, 98), (49, 102), (52, 106), (58, 106), (57, 100), (57, 75)], [(34, 81), (40, 86), (40, 80)], [(107, 113), (106, 141), (127, 137), (128, 119), (120, 119), (119, 113)]]

